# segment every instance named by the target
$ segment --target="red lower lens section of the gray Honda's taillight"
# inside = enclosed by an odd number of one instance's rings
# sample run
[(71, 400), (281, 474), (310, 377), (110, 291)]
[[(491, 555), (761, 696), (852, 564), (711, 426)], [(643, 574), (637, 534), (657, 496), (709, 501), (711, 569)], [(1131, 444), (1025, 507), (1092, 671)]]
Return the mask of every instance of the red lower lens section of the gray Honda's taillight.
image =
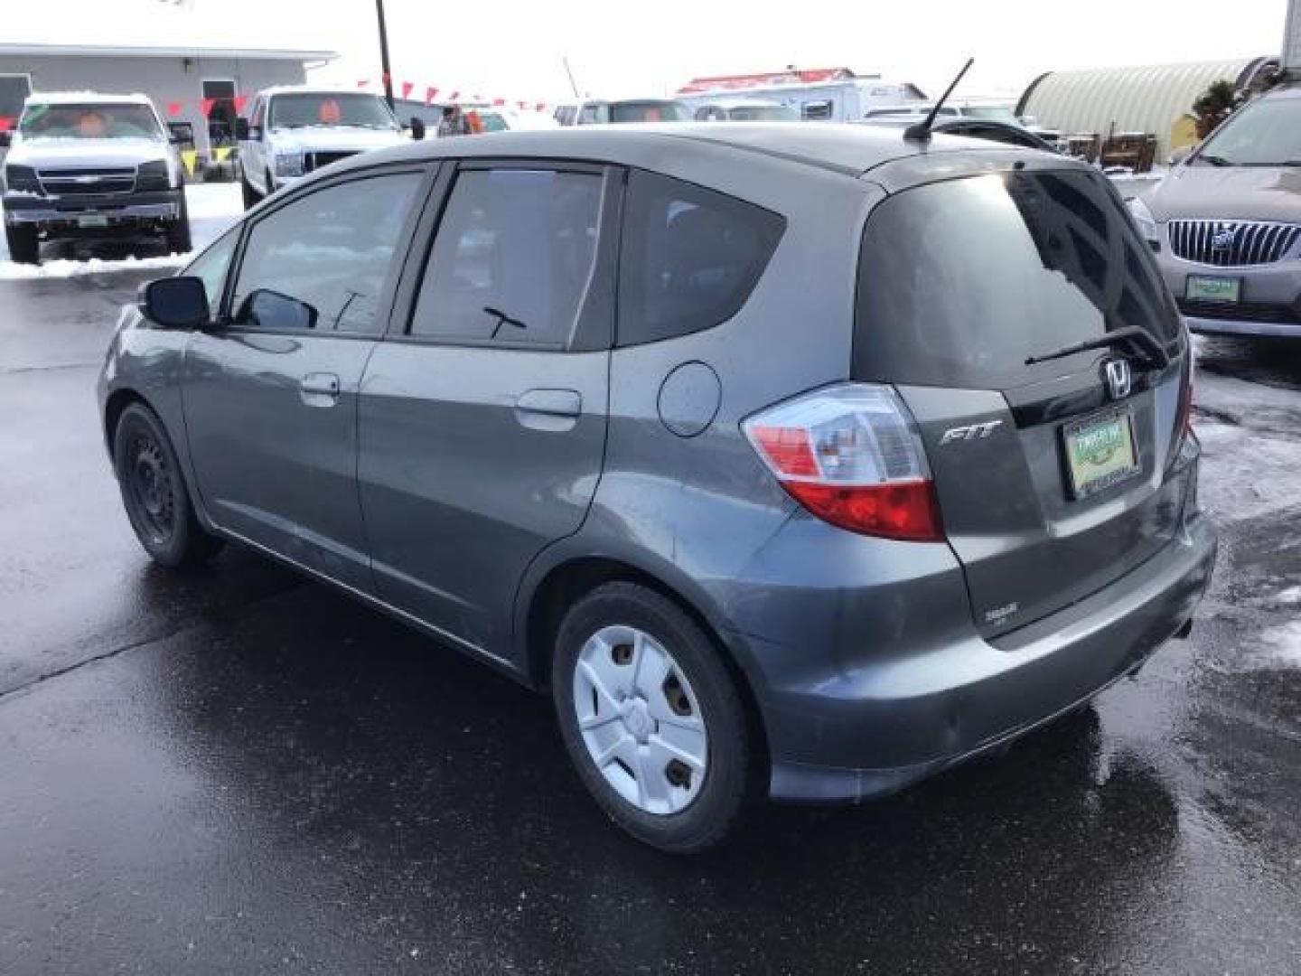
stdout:
[(782, 481), (800, 505), (833, 526), (885, 539), (935, 543), (945, 537), (930, 481), (863, 484), (838, 488), (812, 481)]

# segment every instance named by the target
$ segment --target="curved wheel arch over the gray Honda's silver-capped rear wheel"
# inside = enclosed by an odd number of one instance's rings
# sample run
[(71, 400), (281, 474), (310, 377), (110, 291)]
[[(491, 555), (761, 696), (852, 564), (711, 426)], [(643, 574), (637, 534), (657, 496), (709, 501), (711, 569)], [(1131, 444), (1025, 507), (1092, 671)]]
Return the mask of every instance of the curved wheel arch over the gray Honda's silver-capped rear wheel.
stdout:
[[(755, 737), (756, 752), (766, 763), (769, 755), (768, 734), (764, 729), (762, 716), (758, 711), (753, 688), (751, 688), (745, 673), (736, 664), (735, 657), (732, 657), (731, 651), (709, 622), (709, 618), (667, 583), (626, 562), (601, 557), (572, 560), (561, 563), (546, 574), (537, 586), (537, 590), (533, 591), (533, 597), (528, 606), (526, 651), (528, 653), (528, 677), (531, 682), (539, 688), (545, 688), (550, 685), (552, 657), (556, 653), (556, 635), (559, 632), (561, 622), (565, 619), (569, 609), (598, 586), (614, 582), (637, 583), (647, 590), (653, 590), (682, 608), (705, 632), (718, 651), (718, 657), (723, 662), (723, 666), (727, 668), (736, 682), (736, 688), (742, 701), (745, 704), (747, 720)], [(766, 765), (764, 769), (766, 769)]]

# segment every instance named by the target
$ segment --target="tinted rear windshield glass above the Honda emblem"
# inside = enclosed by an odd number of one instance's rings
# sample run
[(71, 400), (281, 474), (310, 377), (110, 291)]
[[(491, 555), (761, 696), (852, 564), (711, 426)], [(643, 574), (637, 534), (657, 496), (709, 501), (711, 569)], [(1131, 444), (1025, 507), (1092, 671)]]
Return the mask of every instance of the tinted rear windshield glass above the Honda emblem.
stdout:
[(1151, 251), (1103, 180), (980, 176), (877, 207), (860, 255), (855, 377), (1008, 389), (1072, 370), (1072, 359), (1028, 367), (1026, 357), (1110, 331), (1176, 342)]

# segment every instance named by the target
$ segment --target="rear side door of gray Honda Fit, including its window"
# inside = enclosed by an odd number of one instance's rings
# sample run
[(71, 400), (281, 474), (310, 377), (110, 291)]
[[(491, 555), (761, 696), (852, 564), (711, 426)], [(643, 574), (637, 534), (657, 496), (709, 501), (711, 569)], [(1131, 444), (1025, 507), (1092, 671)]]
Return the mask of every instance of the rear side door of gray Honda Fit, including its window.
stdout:
[(379, 595), (505, 656), (524, 569), (601, 472), (622, 174), (451, 169), (366, 371), (362, 509)]

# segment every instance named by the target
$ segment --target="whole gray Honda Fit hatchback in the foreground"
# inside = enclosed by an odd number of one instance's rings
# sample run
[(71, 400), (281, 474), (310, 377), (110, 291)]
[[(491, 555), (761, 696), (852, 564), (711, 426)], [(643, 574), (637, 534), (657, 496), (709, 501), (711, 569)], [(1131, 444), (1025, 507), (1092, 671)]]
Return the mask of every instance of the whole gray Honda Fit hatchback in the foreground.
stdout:
[(1190, 370), (1088, 168), (738, 124), (330, 167), (147, 285), (99, 393), (155, 560), (234, 540), (549, 690), (606, 813), (691, 851), (1185, 634)]

